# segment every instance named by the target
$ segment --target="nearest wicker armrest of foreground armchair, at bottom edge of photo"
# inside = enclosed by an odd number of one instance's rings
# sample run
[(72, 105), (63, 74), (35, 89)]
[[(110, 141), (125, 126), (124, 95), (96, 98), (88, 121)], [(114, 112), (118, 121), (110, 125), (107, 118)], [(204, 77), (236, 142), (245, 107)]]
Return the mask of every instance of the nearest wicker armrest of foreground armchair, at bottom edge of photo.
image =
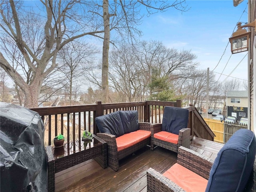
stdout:
[(146, 173), (148, 192), (185, 192), (180, 186), (152, 168), (149, 168)]

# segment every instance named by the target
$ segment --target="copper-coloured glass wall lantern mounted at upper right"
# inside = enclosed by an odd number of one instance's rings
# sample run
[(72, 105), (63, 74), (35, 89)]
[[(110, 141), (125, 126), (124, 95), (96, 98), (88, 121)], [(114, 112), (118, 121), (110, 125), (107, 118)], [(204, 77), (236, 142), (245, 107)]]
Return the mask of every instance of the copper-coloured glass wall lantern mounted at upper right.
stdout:
[(255, 27), (256, 20), (246, 25), (241, 26), (241, 24), (242, 24), (241, 22), (238, 22), (236, 32), (234, 32), (232, 34), (232, 37), (229, 38), (232, 54), (248, 51), (249, 38), (250, 38), (251, 32), (247, 32), (247, 30), (243, 28)]

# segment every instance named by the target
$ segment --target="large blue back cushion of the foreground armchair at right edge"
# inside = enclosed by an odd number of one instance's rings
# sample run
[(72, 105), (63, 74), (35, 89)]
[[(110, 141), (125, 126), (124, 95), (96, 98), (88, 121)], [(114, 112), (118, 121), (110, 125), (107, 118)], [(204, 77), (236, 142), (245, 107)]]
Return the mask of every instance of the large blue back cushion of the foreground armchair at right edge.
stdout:
[(218, 152), (206, 192), (243, 191), (252, 172), (256, 139), (252, 131), (240, 129)]

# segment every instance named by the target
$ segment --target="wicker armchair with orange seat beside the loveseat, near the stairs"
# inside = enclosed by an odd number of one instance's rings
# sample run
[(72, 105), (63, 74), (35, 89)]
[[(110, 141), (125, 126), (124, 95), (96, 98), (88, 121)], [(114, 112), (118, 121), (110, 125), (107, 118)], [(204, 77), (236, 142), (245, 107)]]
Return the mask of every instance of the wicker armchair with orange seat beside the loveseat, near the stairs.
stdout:
[(190, 148), (190, 129), (187, 126), (187, 109), (166, 106), (162, 124), (152, 124), (150, 149), (154, 150), (154, 145), (174, 152), (178, 152), (180, 146)]

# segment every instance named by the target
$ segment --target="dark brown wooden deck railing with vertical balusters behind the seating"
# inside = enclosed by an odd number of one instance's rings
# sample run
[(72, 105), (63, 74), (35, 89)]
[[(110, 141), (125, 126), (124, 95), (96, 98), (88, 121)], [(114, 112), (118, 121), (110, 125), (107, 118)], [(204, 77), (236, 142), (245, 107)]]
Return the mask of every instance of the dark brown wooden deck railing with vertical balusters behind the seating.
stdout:
[[(98, 101), (91, 105), (58, 106), (45, 108), (30, 108), (38, 112), (45, 126), (44, 144), (51, 145), (58, 134), (63, 134), (67, 142), (81, 138), (84, 130), (98, 133), (95, 117), (109, 114), (118, 110), (138, 110), (139, 122), (161, 123), (164, 106), (181, 107), (181, 100), (176, 102), (145, 101), (130, 103), (102, 104)], [(191, 128), (191, 138), (197, 136), (213, 140), (214, 134), (204, 122), (203, 118), (196, 115), (196, 108), (189, 110), (188, 128)], [(200, 123), (201, 122), (201, 123)]]

